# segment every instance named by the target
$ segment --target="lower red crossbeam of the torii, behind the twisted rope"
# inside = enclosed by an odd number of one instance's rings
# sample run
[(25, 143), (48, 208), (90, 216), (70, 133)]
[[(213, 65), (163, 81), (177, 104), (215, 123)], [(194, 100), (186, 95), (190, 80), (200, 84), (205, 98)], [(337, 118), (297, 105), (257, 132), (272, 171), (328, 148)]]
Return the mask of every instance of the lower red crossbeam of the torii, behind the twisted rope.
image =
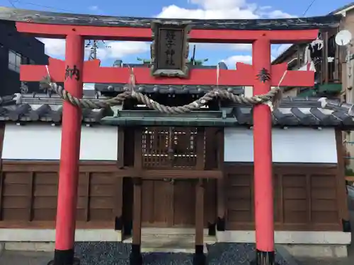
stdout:
[[(100, 60), (84, 61), (82, 70), (83, 83), (127, 83), (130, 77), (130, 69), (127, 67), (100, 67)], [(39, 81), (47, 76), (47, 68), (53, 82), (65, 81), (65, 61), (60, 59), (49, 59), (48, 66), (42, 65), (21, 65), (21, 81)], [(237, 70), (219, 70), (219, 86), (253, 86), (256, 78), (253, 75), (253, 66), (237, 63)], [(272, 73), (270, 86), (278, 86), (280, 78), (287, 70), (287, 63), (270, 66)], [(80, 70), (79, 70), (80, 71)], [(190, 77), (181, 81), (179, 78), (155, 78), (151, 76), (149, 68), (134, 69), (137, 83), (145, 85), (181, 85), (184, 86), (215, 86), (215, 69), (195, 69), (190, 71)], [(236, 82), (235, 82), (236, 81)], [(282, 79), (282, 86), (313, 86), (314, 71), (287, 71)]]

